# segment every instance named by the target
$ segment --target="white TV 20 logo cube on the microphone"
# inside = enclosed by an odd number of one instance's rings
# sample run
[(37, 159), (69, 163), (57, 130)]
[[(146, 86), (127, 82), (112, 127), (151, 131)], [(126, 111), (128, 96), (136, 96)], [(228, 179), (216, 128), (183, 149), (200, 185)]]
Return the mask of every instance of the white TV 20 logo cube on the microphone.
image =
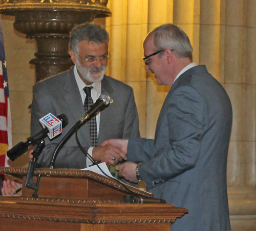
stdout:
[(50, 139), (54, 138), (55, 136), (59, 135), (62, 130), (62, 122), (53, 114), (49, 113), (48, 115), (39, 119), (42, 127), (47, 127), (49, 130), (48, 136)]

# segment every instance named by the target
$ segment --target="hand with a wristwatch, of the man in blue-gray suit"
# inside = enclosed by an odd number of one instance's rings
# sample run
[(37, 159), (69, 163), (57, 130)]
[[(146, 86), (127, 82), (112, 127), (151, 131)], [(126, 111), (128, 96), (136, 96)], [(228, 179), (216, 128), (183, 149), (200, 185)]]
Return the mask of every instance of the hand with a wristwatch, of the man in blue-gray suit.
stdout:
[(116, 170), (119, 170), (119, 176), (124, 177), (127, 179), (127, 181), (130, 182), (138, 182), (138, 179), (136, 177), (136, 168), (137, 164), (132, 162), (126, 162), (124, 164), (120, 164), (116, 166)]

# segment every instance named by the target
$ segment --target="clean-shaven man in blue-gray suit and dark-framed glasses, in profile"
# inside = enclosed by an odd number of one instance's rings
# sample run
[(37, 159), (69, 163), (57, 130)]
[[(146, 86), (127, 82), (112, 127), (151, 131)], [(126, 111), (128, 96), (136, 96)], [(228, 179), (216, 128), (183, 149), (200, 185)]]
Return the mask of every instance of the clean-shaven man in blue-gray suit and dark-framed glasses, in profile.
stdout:
[(226, 167), (232, 108), (222, 85), (192, 61), (187, 35), (164, 24), (144, 41), (145, 70), (172, 86), (160, 111), (155, 140), (109, 140), (127, 154), (116, 167), (154, 196), (188, 209), (172, 231), (230, 230)]

